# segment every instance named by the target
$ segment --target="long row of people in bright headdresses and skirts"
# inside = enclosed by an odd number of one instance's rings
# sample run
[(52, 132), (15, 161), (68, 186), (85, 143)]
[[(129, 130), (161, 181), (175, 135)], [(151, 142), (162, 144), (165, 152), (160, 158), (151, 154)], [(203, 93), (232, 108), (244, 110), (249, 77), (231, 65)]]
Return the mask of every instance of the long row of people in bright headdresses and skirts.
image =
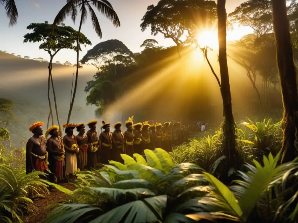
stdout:
[[(145, 149), (163, 148), (167, 152), (188, 136), (188, 127), (181, 123), (166, 122), (163, 125), (149, 122), (133, 123), (133, 117), (125, 121), (127, 130), (122, 132), (122, 123), (102, 122), (103, 131), (97, 134), (97, 120), (87, 123), (63, 124), (66, 135), (59, 136), (59, 127), (51, 126), (43, 136), (43, 123), (30, 126), (33, 133), (26, 146), (26, 173), (41, 171), (49, 174), (49, 181), (59, 183), (61, 178), (74, 179), (77, 169), (95, 168), (97, 164), (108, 164), (109, 160), (123, 162), (121, 153), (133, 157), (134, 153), (143, 154)], [(74, 134), (74, 129), (78, 134)], [(86, 133), (86, 134), (85, 134)], [(50, 136), (50, 137), (48, 137)], [(50, 172), (49, 172), (49, 171)]]

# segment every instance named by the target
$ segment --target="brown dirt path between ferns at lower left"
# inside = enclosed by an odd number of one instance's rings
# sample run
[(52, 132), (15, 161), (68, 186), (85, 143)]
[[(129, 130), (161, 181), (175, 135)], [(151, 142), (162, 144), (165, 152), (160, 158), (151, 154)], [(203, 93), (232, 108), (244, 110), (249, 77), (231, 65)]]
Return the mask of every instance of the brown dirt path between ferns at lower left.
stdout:
[[(61, 186), (73, 191), (75, 190), (75, 186), (70, 183), (61, 183)], [(42, 198), (36, 198), (33, 200), (34, 205), (37, 207), (37, 211), (32, 213), (31, 215), (24, 216), (24, 223), (43, 223), (45, 217), (49, 214), (50, 211), (45, 211), (44, 209), (52, 204), (60, 201), (67, 200), (69, 198), (68, 195), (54, 188), (49, 195)]]

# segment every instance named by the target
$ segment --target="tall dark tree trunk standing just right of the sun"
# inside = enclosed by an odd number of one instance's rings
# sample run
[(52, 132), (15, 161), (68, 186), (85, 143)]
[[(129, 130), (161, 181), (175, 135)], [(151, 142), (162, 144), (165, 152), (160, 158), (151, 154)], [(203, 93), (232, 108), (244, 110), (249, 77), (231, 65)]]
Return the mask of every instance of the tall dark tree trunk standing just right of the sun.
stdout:
[(221, 96), (224, 112), (224, 149), (228, 158), (229, 167), (233, 166), (236, 155), (235, 122), (232, 112), (232, 98), (229, 83), (229, 71), (226, 55), (226, 0), (218, 0), (218, 62), (221, 72)]

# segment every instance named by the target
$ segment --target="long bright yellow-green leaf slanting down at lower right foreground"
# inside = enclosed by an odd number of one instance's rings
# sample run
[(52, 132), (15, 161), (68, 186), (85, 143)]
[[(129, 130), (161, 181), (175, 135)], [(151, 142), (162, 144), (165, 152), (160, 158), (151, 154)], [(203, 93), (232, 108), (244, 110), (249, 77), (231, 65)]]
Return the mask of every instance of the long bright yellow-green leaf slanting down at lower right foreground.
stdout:
[(204, 172), (206, 179), (214, 186), (216, 190), (216, 194), (218, 195), (219, 201), (228, 209), (234, 216), (241, 218), (242, 210), (238, 204), (238, 200), (235, 198), (232, 191), (229, 188), (221, 183), (218, 179), (216, 179), (211, 174)]

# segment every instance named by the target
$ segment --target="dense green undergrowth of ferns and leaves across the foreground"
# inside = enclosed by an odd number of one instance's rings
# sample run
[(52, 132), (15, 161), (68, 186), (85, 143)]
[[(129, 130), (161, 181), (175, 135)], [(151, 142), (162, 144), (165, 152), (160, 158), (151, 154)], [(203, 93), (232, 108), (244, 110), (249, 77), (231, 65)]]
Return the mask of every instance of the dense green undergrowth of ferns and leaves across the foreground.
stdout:
[[(237, 125), (238, 155), (229, 169), (220, 128), (171, 153), (122, 154), (124, 164), (77, 173), (75, 191), (57, 186), (70, 199), (51, 205), (45, 222), (297, 222), (298, 163), (277, 165), (280, 125), (272, 119)], [(24, 152), (12, 151), (0, 152), (1, 222), (21, 222), (34, 210), (31, 198), (49, 193), (43, 173), (25, 175)]]

